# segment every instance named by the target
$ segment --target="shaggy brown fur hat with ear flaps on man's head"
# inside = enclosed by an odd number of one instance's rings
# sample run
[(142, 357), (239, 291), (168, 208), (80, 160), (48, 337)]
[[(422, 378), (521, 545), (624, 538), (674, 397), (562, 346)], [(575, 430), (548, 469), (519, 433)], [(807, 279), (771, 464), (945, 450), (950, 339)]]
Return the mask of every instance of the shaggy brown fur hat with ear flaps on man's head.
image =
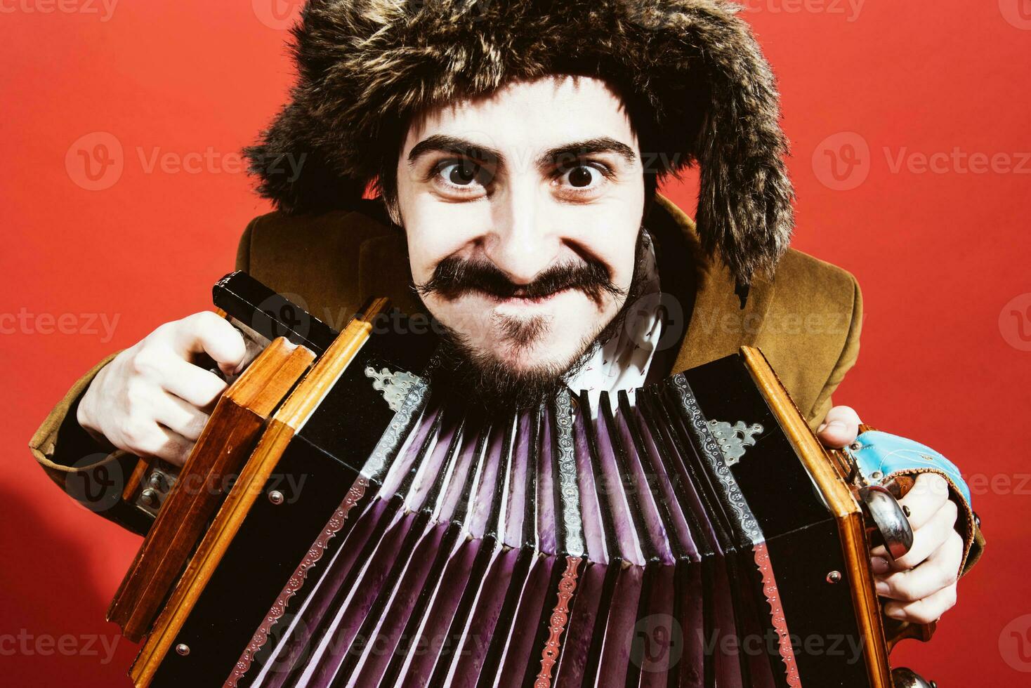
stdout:
[[(289, 213), (353, 207), (425, 108), (511, 79), (612, 84), (662, 178), (700, 168), (697, 223), (739, 285), (788, 246), (793, 192), (774, 77), (727, 0), (308, 0), (292, 100), (247, 148)], [(387, 159), (389, 160), (389, 159)], [(288, 164), (289, 163), (289, 164)]]

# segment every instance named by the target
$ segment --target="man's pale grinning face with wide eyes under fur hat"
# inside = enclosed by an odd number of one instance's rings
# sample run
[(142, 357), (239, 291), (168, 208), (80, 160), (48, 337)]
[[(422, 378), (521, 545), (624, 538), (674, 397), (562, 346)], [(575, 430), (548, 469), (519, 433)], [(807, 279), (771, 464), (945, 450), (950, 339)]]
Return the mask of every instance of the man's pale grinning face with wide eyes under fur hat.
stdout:
[(626, 299), (644, 185), (601, 80), (513, 82), (430, 112), (407, 132), (397, 190), (423, 302), (481, 364), (561, 374)]

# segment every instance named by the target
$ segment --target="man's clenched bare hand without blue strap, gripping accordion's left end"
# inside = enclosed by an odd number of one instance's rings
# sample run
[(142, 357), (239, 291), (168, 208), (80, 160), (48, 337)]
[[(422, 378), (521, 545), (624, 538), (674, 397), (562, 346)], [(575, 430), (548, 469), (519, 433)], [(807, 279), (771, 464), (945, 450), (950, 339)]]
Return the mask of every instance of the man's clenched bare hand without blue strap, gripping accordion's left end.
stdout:
[(226, 389), (195, 366), (206, 353), (226, 374), (243, 367), (243, 337), (214, 313), (167, 322), (101, 369), (78, 405), (78, 423), (119, 449), (181, 466)]

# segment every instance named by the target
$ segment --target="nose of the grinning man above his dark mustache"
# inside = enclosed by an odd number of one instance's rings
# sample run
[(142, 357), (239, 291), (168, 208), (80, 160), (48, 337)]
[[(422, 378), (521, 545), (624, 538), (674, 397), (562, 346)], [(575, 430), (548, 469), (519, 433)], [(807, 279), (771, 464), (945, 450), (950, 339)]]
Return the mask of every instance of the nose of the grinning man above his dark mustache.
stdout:
[(534, 184), (513, 184), (495, 201), (487, 257), (514, 284), (529, 284), (556, 263), (562, 240), (550, 221), (547, 199)]

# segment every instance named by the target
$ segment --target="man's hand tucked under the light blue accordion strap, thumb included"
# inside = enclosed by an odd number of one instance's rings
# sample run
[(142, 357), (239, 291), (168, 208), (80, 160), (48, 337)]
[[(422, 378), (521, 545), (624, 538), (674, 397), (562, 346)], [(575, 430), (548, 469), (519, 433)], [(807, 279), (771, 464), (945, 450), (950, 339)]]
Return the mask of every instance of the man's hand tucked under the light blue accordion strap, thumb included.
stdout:
[[(856, 440), (859, 415), (847, 406), (827, 412), (817, 435), (824, 445), (840, 449)], [(891, 561), (884, 547), (871, 552), (877, 594), (891, 599), (885, 614), (900, 621), (930, 623), (956, 604), (956, 584), (963, 560), (963, 538), (956, 531), (958, 509), (949, 484), (934, 473), (922, 473), (899, 505), (912, 525), (912, 548)]]

